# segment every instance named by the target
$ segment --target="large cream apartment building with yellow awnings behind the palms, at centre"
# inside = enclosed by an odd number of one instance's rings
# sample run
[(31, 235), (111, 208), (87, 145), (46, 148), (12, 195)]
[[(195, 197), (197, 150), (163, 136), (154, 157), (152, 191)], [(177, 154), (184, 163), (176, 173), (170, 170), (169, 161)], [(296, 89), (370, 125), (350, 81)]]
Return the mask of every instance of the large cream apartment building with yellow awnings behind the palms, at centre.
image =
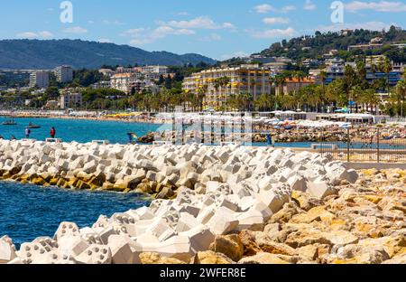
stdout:
[[(182, 88), (195, 94), (204, 91), (204, 108), (219, 109), (226, 107), (226, 101), (231, 95), (247, 93), (254, 100), (262, 94), (271, 94), (271, 74), (272, 71), (258, 65), (210, 69), (185, 78)], [(221, 84), (221, 78), (227, 78), (229, 82)]]

